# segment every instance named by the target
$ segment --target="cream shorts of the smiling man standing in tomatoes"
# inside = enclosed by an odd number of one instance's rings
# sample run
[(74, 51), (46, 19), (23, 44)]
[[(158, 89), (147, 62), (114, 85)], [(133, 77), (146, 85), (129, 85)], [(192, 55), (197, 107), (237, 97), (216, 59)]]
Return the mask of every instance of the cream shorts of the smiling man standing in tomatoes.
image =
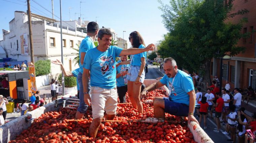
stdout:
[(92, 117), (102, 118), (104, 111), (108, 115), (115, 115), (117, 111), (117, 87), (112, 89), (91, 87)]

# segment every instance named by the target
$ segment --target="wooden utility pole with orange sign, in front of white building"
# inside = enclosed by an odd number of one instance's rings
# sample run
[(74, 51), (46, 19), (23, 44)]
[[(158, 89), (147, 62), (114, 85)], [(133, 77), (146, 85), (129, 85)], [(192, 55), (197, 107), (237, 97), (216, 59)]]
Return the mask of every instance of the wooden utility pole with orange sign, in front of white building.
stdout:
[[(33, 49), (33, 41), (32, 41), (32, 22), (31, 22), (31, 11), (30, 11), (30, 0), (27, 0), (28, 5), (28, 31), (29, 31), (29, 46), (30, 46), (30, 56), (31, 56), (31, 62), (35, 65), (34, 62), (34, 49)], [(36, 73), (34, 71), (34, 76), (36, 76)], [(36, 87), (36, 82), (34, 82), (34, 86)]]

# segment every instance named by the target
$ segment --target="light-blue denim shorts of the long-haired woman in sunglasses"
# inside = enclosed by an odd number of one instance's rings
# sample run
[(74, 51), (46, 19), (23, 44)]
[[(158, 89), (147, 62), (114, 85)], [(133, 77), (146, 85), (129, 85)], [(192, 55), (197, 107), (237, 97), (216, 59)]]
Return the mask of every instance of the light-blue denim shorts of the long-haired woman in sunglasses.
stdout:
[[(140, 70), (140, 66), (130, 66), (130, 68), (128, 70), (129, 74), (127, 74), (126, 79), (129, 80), (129, 81), (135, 81), (136, 78), (138, 77), (139, 70)], [(140, 76), (141, 76), (141, 78), (139, 79), (139, 82), (143, 83), (144, 79), (145, 79), (144, 69), (143, 69), (143, 72), (141, 73)]]

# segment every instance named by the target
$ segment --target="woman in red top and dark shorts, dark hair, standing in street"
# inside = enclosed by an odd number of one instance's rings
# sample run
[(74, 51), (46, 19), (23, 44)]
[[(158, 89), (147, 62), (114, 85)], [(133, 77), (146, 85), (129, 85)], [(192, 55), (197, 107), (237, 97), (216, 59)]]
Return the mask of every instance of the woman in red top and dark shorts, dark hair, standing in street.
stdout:
[(200, 113), (200, 118), (199, 118), (199, 124), (202, 121), (202, 116), (203, 116), (203, 123), (204, 123), (204, 129), (207, 129), (206, 126), (206, 116), (207, 116), (207, 111), (208, 111), (208, 107), (209, 104), (208, 102), (206, 102), (206, 97), (203, 96), (201, 101), (199, 101), (199, 98), (197, 99), (197, 103), (200, 104), (200, 109), (199, 109), (199, 113)]

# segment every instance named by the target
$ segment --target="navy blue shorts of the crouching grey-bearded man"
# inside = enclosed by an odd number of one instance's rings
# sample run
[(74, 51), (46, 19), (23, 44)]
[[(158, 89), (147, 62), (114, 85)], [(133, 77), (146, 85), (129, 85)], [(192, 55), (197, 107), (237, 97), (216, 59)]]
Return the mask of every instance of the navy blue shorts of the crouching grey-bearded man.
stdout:
[(184, 103), (171, 101), (169, 97), (164, 99), (164, 112), (175, 116), (188, 116), (189, 106)]

